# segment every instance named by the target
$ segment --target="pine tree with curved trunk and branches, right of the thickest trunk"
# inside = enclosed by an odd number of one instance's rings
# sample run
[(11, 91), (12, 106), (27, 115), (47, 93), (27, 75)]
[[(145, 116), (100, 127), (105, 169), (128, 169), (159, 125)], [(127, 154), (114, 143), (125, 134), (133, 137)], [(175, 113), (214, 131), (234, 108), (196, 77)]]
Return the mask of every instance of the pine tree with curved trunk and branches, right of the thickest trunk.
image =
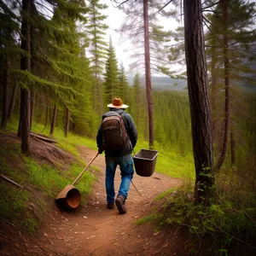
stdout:
[[(215, 5), (207, 33), (208, 52), (212, 55), (209, 66), (212, 67), (212, 110), (214, 111), (213, 131), (215, 143), (219, 143), (220, 153), (215, 166), (216, 172), (224, 163), (229, 148), (230, 133), (232, 143), (238, 136), (237, 129), (231, 124), (239, 122), (236, 119), (241, 112), (242, 93), (237, 90), (238, 84), (255, 84), (252, 74), (253, 49), (255, 48), (255, 29), (253, 29), (255, 4), (247, 1), (220, 1)], [(207, 21), (208, 21), (207, 20)], [(224, 84), (224, 85), (223, 85)], [(217, 102), (222, 99), (221, 89), (224, 88), (224, 123), (217, 122), (222, 109), (217, 108)], [(235, 103), (236, 102), (236, 103)], [(217, 131), (221, 131), (219, 134)], [(234, 163), (235, 150), (231, 147)]]

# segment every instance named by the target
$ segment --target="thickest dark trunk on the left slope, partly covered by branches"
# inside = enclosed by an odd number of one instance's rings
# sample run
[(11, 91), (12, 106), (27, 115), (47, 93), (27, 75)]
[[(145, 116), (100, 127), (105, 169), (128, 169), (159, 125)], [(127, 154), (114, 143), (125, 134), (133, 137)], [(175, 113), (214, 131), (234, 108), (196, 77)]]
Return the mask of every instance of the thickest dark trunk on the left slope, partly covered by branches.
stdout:
[[(29, 17), (31, 0), (22, 0), (22, 22), (21, 22), (21, 49), (30, 55), (30, 25)], [(22, 55), (20, 69), (30, 71), (30, 57)], [(20, 89), (20, 135), (21, 151), (29, 154), (30, 150), (30, 91), (26, 88)]]

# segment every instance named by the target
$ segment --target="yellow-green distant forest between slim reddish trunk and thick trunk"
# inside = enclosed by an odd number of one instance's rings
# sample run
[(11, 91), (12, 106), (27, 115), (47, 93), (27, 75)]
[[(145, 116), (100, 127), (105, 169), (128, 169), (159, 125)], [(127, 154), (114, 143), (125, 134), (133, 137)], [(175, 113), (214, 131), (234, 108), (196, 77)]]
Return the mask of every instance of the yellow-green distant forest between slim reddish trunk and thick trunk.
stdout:
[(184, 93), (154, 92), (155, 140), (181, 155), (192, 151), (189, 98)]

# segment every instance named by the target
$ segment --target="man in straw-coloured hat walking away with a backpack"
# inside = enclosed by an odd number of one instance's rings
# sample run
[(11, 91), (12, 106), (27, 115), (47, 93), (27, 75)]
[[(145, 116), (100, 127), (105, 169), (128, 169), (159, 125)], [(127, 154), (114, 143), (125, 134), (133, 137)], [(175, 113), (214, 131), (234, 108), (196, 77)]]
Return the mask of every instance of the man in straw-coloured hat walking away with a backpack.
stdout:
[[(115, 202), (121, 214), (126, 212), (125, 200), (134, 173), (131, 152), (137, 143), (136, 126), (131, 115), (125, 113), (125, 108), (128, 107), (120, 98), (114, 98), (113, 102), (108, 104), (109, 111), (102, 116), (102, 125), (96, 137), (99, 153), (102, 154), (105, 150), (107, 207), (113, 209)], [(117, 166), (121, 171), (121, 183), (114, 200), (114, 175)]]

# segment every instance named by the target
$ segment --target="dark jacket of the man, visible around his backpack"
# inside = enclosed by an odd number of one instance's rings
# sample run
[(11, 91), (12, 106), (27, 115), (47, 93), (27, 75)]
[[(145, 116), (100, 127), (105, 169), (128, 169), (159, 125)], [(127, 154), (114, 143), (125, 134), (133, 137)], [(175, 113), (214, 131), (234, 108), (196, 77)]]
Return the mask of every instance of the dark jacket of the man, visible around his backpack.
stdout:
[[(120, 108), (111, 108), (111, 111), (117, 112), (119, 114), (124, 113), (125, 111)], [(110, 116), (111, 113), (107, 112), (102, 115), (102, 120), (105, 119), (106, 117)], [(137, 143), (137, 129), (136, 126), (133, 123), (133, 120), (131, 118), (131, 115), (129, 113), (124, 113), (122, 115), (122, 118), (125, 123), (125, 129), (127, 131), (127, 134), (130, 138), (130, 141), (128, 141), (125, 144), (125, 147), (120, 150), (111, 150), (111, 151), (105, 151), (106, 156), (119, 156), (119, 155), (125, 155), (125, 154), (131, 154), (132, 149), (135, 147)], [(97, 137), (96, 137), (96, 142), (97, 142), (97, 147), (101, 148), (102, 147), (102, 125), (100, 125)]]

